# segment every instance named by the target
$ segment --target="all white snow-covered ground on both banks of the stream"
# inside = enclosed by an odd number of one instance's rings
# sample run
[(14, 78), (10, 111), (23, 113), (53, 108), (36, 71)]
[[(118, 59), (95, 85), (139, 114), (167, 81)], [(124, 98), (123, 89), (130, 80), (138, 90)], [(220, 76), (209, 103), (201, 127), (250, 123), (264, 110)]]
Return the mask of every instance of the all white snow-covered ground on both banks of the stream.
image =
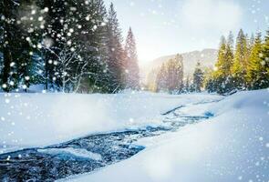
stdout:
[[(219, 102), (218, 102), (219, 101)], [(269, 91), (233, 96), (0, 94), (0, 151), (43, 147), (78, 136), (164, 125), (161, 114), (212, 116), (175, 132), (140, 138), (137, 155), (62, 181), (269, 181)], [(191, 118), (191, 117), (190, 117)], [(176, 118), (175, 118), (176, 119)], [(84, 148), (39, 148), (100, 160)]]

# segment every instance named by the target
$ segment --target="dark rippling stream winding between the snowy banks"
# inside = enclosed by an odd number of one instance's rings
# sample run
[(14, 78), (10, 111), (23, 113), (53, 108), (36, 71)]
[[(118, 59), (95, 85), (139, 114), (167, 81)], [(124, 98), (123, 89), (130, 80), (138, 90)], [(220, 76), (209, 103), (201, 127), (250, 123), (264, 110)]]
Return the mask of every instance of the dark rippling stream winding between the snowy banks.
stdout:
[(180, 108), (164, 114), (163, 126), (85, 136), (55, 146), (0, 155), (0, 181), (55, 181), (91, 172), (139, 153), (145, 147), (134, 142), (142, 137), (159, 136), (212, 116), (184, 116)]

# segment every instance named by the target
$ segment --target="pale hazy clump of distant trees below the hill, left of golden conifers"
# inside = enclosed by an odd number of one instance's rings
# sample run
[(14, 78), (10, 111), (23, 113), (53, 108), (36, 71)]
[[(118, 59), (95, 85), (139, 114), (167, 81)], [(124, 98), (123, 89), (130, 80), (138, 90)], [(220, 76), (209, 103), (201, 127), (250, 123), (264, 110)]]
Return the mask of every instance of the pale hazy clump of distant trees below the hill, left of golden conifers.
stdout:
[(153, 92), (170, 94), (201, 92), (204, 81), (201, 63), (197, 61), (192, 76), (184, 76), (183, 70), (183, 56), (178, 54), (165, 61), (159, 68), (150, 71), (146, 87)]

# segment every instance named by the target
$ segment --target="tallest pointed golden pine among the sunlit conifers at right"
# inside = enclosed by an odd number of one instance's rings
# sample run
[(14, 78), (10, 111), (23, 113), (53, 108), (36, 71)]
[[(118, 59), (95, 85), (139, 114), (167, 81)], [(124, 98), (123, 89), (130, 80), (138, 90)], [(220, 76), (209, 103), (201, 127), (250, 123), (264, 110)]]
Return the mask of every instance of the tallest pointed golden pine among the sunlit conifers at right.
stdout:
[(239, 31), (236, 40), (235, 55), (232, 67), (233, 88), (245, 89), (246, 84), (246, 68), (248, 65), (248, 47), (246, 35), (243, 30)]

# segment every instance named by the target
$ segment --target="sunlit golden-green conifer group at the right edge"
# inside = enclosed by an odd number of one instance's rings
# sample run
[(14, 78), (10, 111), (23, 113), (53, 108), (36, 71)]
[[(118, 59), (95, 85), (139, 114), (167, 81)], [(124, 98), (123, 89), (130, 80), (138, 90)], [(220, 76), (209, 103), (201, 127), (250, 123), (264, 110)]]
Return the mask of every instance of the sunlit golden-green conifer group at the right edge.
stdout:
[(269, 31), (249, 37), (241, 29), (234, 46), (233, 34), (222, 36), (218, 60), (205, 79), (205, 89), (219, 94), (269, 87)]

